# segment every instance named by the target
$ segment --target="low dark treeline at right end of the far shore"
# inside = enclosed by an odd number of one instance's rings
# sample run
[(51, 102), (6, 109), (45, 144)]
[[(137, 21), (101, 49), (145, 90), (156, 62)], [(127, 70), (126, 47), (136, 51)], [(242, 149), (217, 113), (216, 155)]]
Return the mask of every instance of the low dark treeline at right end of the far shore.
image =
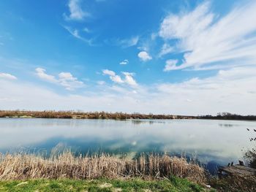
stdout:
[(219, 112), (216, 116), (203, 115), (201, 119), (217, 119), (217, 120), (256, 120), (256, 115), (237, 115), (230, 112)]

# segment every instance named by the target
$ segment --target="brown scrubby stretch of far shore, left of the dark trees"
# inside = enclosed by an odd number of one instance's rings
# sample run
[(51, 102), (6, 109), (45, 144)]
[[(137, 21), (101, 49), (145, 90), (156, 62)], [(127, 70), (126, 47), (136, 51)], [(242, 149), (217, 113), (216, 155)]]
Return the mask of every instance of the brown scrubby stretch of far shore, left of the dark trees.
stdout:
[(7, 111), (0, 110), (0, 118), (75, 118), (75, 119), (191, 119), (192, 116), (154, 115), (124, 112), (75, 112), (75, 111)]

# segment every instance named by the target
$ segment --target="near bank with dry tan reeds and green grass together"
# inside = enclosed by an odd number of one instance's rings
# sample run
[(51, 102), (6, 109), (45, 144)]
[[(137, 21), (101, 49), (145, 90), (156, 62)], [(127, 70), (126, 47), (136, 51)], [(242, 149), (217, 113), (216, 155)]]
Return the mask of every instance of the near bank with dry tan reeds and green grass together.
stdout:
[(168, 155), (0, 154), (0, 191), (205, 191), (205, 181), (203, 168)]

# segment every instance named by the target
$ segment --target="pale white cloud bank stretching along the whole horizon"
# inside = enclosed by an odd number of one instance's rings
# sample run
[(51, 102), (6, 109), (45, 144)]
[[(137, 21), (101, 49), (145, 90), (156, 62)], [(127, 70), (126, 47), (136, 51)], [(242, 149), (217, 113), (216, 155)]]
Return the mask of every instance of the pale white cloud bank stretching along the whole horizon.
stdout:
[[(207, 78), (150, 86), (126, 87), (127, 82), (102, 85), (78, 94), (58, 94), (31, 82), (0, 79), (0, 106), (6, 110), (86, 110), (216, 115), (234, 112), (255, 115), (256, 68), (220, 70)], [(116, 73), (115, 73), (116, 74)], [(124, 74), (125, 75), (125, 74)], [(127, 73), (127, 75), (133, 75)], [(72, 80), (70, 75), (61, 75)], [(125, 80), (125, 78), (124, 78)]]

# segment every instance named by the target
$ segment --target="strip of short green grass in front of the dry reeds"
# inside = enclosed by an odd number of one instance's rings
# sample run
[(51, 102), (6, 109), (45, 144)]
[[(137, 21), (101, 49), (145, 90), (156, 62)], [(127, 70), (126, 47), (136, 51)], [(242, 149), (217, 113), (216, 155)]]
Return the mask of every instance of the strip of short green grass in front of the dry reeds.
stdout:
[(170, 180), (23, 180), (1, 181), (0, 191), (206, 191), (200, 185), (188, 180), (172, 177)]

